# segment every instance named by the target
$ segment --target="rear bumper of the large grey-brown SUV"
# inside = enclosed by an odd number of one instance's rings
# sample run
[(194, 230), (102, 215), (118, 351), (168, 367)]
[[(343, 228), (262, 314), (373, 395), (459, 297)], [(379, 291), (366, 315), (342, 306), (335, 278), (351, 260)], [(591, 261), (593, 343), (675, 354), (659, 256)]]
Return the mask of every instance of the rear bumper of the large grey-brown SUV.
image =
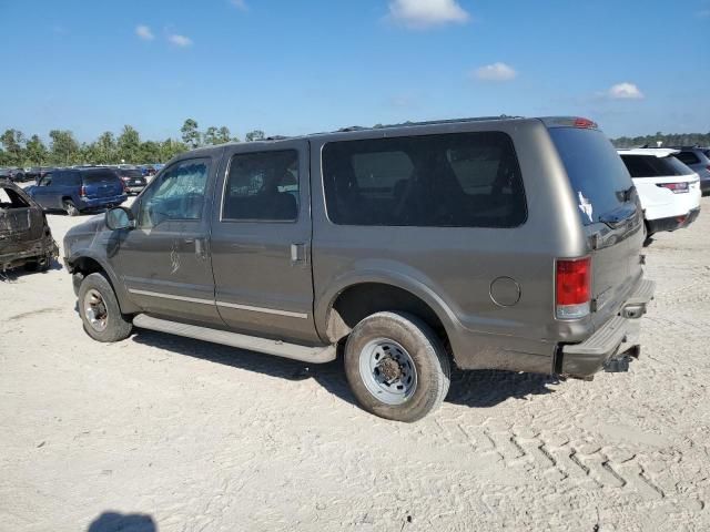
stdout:
[(627, 352), (638, 354), (640, 317), (653, 298), (656, 283), (643, 279), (623, 304), (618, 316), (607, 321), (581, 344), (561, 346), (556, 360), (556, 372), (589, 378), (605, 365)]

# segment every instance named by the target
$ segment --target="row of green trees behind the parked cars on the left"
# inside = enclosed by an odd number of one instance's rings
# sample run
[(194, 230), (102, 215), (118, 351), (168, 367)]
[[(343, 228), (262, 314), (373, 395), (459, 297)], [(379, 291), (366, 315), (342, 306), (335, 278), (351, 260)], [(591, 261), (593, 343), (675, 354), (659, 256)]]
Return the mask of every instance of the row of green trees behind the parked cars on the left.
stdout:
[[(180, 139), (143, 141), (131, 125), (124, 125), (116, 136), (106, 131), (93, 142), (80, 143), (69, 130), (49, 132), (49, 145), (33, 134), (9, 129), (0, 135), (0, 166), (69, 166), (73, 164), (148, 164), (165, 163), (179, 153), (205, 145), (240, 142), (226, 126), (210, 126), (200, 131), (197, 122), (187, 119), (180, 129)], [(254, 130), (246, 141), (264, 139), (264, 132)]]

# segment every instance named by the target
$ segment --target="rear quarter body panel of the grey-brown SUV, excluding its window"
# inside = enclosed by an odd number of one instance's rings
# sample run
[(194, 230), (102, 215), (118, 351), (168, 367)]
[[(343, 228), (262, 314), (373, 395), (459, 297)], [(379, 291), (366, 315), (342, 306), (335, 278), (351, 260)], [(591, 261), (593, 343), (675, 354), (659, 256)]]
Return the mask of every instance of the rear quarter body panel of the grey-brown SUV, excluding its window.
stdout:
[[(326, 142), (476, 131), (501, 131), (514, 142), (528, 211), (519, 227), (367, 227), (329, 222), (321, 167)], [(375, 280), (407, 288), (433, 307), (447, 329), (459, 367), (551, 369), (555, 340), (569, 329), (554, 318), (555, 257), (584, 255), (587, 244), (565, 170), (540, 121), (440, 124), (316, 137), (311, 153), (315, 317), (322, 337), (338, 293)], [(516, 305), (501, 307), (493, 301), (490, 285), (498, 277), (519, 285)], [(532, 359), (520, 367), (516, 354)]]

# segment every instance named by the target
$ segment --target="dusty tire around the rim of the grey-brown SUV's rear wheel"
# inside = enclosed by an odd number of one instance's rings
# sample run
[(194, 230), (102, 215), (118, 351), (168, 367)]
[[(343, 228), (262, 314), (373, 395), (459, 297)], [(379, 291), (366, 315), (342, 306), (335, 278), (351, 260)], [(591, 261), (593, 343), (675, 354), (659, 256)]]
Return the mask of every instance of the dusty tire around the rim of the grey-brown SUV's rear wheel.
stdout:
[[(416, 369), (416, 388), (399, 405), (378, 400), (361, 375), (361, 352), (369, 342), (381, 338), (399, 344)], [(450, 383), (450, 364), (439, 337), (419, 318), (404, 313), (377, 313), (357, 324), (347, 338), (345, 375), (357, 402), (365, 410), (381, 418), (413, 422), (444, 401)]]

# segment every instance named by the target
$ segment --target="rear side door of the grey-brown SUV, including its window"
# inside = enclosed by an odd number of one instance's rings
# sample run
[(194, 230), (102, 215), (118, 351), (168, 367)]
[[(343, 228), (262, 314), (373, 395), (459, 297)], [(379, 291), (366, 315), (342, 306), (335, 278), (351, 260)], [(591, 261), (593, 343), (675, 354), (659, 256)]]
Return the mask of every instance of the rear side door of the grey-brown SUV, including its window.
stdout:
[(307, 142), (234, 145), (224, 161), (211, 241), (220, 315), (234, 330), (317, 341)]

